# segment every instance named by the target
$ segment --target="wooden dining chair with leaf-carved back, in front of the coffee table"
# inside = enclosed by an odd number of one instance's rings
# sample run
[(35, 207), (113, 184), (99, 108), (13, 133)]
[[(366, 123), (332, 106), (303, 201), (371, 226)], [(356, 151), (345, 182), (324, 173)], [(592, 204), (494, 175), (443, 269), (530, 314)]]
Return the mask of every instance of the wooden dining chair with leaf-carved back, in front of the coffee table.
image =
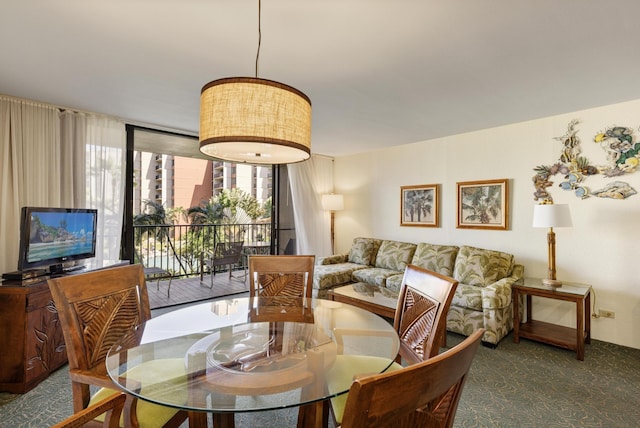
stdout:
[[(394, 317), (400, 349), (396, 362), (386, 371), (402, 368), (402, 359), (406, 364), (416, 364), (438, 354), (444, 345), (447, 312), (457, 286), (458, 281), (453, 278), (419, 266), (406, 267)], [(340, 329), (336, 329), (334, 334), (338, 343), (345, 340), (342, 337), (345, 332)], [(379, 373), (380, 367), (384, 367), (379, 359), (359, 355), (338, 355), (335, 365), (335, 375), (328, 378), (330, 391), (344, 390), (352, 382), (342, 373)], [(337, 425), (342, 420), (347, 397), (348, 394), (342, 394), (330, 400), (331, 413)]]

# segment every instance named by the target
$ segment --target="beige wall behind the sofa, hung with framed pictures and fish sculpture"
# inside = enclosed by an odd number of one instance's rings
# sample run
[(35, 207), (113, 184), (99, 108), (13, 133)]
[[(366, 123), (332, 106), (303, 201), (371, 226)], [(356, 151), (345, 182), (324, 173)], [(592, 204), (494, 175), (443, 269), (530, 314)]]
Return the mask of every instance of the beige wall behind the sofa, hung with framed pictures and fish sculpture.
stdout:
[[(572, 119), (580, 120), (582, 153), (595, 165), (606, 164), (593, 141), (598, 132), (628, 126), (640, 140), (637, 100), (336, 158), (336, 193), (345, 195), (345, 210), (336, 213), (336, 252), (348, 251), (356, 236), (466, 244), (513, 253), (527, 276), (544, 277), (547, 230), (531, 226), (533, 168), (559, 158), (562, 145), (555, 137), (565, 134)], [(509, 179), (509, 230), (457, 229), (456, 182), (499, 178)], [(584, 184), (596, 190), (614, 180), (640, 192), (640, 169), (615, 179), (590, 176)], [(557, 277), (591, 284), (595, 309), (615, 312), (615, 319), (592, 319), (594, 339), (640, 348), (640, 194), (579, 199), (557, 187), (560, 175), (553, 181), (555, 202), (569, 204), (573, 217), (572, 228), (556, 229)], [(434, 183), (441, 185), (441, 226), (400, 227), (400, 186)], [(537, 299), (533, 317), (575, 326), (575, 307)]]

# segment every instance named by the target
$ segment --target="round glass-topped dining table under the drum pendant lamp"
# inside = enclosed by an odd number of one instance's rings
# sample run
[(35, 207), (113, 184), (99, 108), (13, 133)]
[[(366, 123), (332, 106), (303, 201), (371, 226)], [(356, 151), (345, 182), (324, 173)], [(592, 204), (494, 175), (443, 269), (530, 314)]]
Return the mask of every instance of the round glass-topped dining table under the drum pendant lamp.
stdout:
[[(327, 423), (332, 377), (382, 372), (398, 354), (389, 320), (345, 303), (229, 298), (150, 319), (114, 344), (113, 382), (152, 403), (189, 412), (189, 426), (233, 427), (234, 414), (299, 407), (298, 426)], [(367, 358), (368, 373), (344, 364)], [(371, 363), (373, 361), (373, 364)], [(373, 370), (372, 370), (373, 368)]]

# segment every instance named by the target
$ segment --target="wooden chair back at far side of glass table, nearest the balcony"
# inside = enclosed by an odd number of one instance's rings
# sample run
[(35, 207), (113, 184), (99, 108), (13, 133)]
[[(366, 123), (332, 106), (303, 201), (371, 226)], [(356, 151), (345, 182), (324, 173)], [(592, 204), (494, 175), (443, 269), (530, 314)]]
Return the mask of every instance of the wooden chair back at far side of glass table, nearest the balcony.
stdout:
[(310, 299), (315, 256), (249, 256), (249, 297)]

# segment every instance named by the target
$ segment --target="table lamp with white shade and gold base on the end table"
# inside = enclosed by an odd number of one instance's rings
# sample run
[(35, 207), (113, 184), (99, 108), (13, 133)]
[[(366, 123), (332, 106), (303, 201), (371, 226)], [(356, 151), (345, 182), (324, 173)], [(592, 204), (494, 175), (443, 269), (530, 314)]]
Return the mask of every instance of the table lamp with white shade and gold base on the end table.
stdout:
[(554, 227), (571, 227), (571, 213), (567, 204), (542, 203), (533, 207), (533, 227), (548, 227), (547, 244), (549, 246), (549, 269), (542, 283), (547, 287), (562, 286), (556, 279), (556, 234)]

